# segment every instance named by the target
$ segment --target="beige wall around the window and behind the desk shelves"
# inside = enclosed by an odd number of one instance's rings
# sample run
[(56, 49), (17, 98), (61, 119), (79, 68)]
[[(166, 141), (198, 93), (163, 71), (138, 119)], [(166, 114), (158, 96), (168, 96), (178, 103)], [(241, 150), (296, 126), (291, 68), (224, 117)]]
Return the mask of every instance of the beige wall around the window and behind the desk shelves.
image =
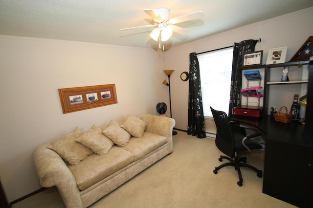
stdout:
[[(202, 38), (166, 51), (166, 68), (176, 69), (171, 76), (172, 114), (173, 118), (176, 119), (176, 128), (187, 130), (188, 125), (188, 82), (181, 81), (179, 76), (184, 71), (189, 72), (189, 53), (201, 53), (231, 46), (234, 42), (245, 39), (261, 38), (262, 41), (257, 43), (255, 50), (263, 50), (263, 64), (266, 63), (270, 48), (282, 46), (288, 46), (286, 61), (289, 61), (307, 38), (313, 36), (312, 19), (313, 7), (310, 7), (208, 38)], [(291, 98), (287, 99), (288, 103), (277, 102), (274, 105), (286, 105), (290, 108), (293, 94), (294, 92), (291, 93)], [(270, 100), (275, 100), (275, 95)], [(214, 124), (210, 120), (206, 124), (207, 131), (214, 131), (215, 128), (212, 126)]]

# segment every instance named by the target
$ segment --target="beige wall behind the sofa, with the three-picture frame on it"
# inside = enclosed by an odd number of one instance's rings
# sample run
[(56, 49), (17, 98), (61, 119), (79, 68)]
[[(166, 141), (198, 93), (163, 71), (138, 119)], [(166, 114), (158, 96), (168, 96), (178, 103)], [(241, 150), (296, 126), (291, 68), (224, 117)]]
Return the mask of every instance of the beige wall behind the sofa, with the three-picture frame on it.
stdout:
[[(8, 200), (40, 189), (32, 152), (167, 102), (163, 53), (146, 48), (0, 36), (0, 178)], [(63, 114), (59, 88), (115, 83), (118, 103)]]

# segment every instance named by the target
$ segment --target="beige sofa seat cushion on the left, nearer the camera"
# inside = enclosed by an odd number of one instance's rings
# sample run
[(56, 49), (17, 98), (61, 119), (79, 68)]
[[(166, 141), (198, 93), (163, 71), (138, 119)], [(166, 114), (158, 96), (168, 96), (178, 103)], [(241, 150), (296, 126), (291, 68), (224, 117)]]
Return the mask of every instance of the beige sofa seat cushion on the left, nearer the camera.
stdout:
[(133, 155), (113, 146), (106, 155), (91, 154), (76, 166), (68, 166), (80, 190), (110, 176), (134, 161)]

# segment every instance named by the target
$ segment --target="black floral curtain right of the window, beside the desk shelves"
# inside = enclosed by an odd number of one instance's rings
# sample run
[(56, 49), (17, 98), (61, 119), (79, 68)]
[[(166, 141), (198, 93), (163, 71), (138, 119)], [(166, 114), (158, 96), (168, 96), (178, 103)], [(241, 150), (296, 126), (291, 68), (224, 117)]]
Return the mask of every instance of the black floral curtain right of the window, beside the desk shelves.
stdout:
[(228, 116), (231, 117), (232, 109), (241, 105), (242, 71), (238, 70), (242, 66), (243, 56), (246, 53), (254, 52), (255, 44), (258, 40), (243, 40), (234, 43), (233, 66), (231, 72), (230, 100)]

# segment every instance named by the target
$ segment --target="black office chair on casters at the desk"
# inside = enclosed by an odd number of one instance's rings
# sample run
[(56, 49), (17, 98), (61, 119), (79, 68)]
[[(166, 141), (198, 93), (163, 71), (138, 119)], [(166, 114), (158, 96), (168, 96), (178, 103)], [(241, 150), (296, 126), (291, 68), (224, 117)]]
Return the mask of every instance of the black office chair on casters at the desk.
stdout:
[(251, 140), (253, 137), (260, 136), (261, 133), (255, 132), (250, 135), (246, 135), (245, 128), (240, 127), (239, 122), (229, 121), (226, 113), (223, 111), (216, 111), (212, 107), (210, 108), (217, 129), (215, 144), (220, 151), (228, 155), (228, 157), (221, 155), (219, 161), (222, 162), (223, 159), (230, 161), (216, 167), (213, 172), (217, 174), (217, 171), (225, 166), (234, 166), (235, 170), (238, 171), (239, 181), (237, 184), (240, 187), (243, 185), (240, 167), (247, 167), (255, 170), (257, 172), (257, 176), (262, 178), (262, 170), (258, 170), (257, 168), (246, 164), (246, 157), (239, 156), (239, 154), (243, 151), (262, 149), (262, 145)]

